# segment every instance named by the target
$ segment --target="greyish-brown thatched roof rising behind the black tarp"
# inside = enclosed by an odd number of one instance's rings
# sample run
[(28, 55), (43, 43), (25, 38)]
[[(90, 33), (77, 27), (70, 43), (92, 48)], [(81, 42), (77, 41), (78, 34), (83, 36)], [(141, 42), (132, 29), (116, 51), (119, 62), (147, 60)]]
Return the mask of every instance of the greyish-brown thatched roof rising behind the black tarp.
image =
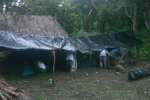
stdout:
[(51, 16), (1, 15), (0, 31), (45, 36), (67, 36), (61, 25)]

